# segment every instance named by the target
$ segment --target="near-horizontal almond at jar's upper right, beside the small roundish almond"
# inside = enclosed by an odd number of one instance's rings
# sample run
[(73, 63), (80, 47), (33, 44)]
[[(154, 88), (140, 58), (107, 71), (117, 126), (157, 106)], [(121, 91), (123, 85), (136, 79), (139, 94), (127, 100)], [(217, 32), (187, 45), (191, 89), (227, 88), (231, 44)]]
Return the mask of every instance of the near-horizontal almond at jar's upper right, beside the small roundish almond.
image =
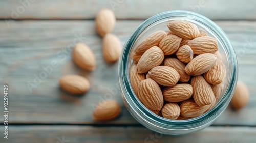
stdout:
[(218, 41), (214, 37), (202, 36), (187, 43), (194, 54), (215, 53), (218, 51)]

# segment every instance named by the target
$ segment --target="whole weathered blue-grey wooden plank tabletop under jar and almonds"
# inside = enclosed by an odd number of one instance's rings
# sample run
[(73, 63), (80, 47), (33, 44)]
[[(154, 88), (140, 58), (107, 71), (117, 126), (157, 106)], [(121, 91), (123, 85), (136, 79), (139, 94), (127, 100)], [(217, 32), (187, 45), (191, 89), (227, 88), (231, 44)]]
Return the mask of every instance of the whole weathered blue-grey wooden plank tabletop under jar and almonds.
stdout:
[[(0, 142), (256, 142), (256, 1), (21, 1), (0, 2), (0, 84), (9, 85), (9, 139)], [(111, 6), (112, 4), (112, 6)], [(95, 32), (94, 17), (101, 8), (113, 9), (114, 30), (124, 44), (143, 20), (169, 10), (198, 12), (214, 20), (237, 51), (239, 80), (250, 90), (248, 105), (230, 107), (212, 126), (184, 136), (160, 135), (140, 125), (126, 110), (120, 91), (113, 94), (122, 107), (116, 120), (98, 123), (91, 119), (94, 105), (116, 90), (118, 63), (102, 58), (102, 38)], [(15, 11), (15, 12), (14, 12)], [(86, 43), (96, 55), (97, 70), (83, 71), (72, 62), (73, 40)], [(30, 91), (44, 68), (56, 61), (46, 78)], [(81, 97), (59, 89), (58, 79), (66, 74), (87, 77), (92, 85)], [(0, 98), (1, 112), (3, 96)], [(152, 137), (153, 136), (153, 137)]]

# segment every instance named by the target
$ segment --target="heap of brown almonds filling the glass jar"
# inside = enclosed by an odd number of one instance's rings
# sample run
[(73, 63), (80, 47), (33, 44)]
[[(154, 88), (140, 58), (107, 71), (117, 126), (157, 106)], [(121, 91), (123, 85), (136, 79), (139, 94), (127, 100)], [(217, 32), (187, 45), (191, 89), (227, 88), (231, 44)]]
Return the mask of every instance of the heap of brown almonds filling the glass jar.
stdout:
[(171, 21), (134, 50), (130, 82), (141, 103), (159, 116), (184, 120), (218, 101), (226, 69), (218, 41), (187, 21)]

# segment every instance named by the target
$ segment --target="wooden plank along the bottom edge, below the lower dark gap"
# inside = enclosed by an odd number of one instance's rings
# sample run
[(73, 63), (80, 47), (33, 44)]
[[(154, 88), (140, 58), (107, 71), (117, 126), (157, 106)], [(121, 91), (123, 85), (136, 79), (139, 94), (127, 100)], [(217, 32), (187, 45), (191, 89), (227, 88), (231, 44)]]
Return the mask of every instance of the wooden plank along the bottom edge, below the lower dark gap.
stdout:
[[(143, 127), (11, 126), (9, 139), (2, 143), (67, 142), (255, 142), (255, 127), (208, 127), (183, 136), (161, 135)], [(2, 130), (0, 131), (3, 132)]]

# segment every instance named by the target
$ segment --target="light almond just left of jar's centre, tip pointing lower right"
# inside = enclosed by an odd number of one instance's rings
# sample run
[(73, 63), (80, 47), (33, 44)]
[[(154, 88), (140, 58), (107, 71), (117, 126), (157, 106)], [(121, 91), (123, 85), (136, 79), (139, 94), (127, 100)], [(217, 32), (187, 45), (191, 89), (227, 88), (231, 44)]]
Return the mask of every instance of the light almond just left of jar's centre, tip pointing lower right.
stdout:
[(168, 66), (154, 67), (148, 74), (158, 84), (168, 87), (175, 85), (180, 79), (179, 73), (174, 68)]

